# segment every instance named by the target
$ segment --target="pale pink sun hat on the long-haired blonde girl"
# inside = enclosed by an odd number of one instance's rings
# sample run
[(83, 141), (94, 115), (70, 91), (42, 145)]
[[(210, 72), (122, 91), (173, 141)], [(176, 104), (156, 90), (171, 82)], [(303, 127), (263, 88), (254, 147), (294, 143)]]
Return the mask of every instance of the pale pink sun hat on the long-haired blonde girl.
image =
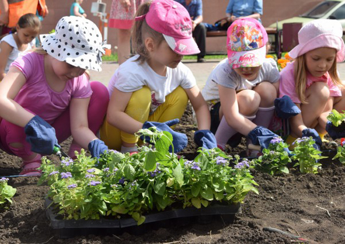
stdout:
[(337, 62), (345, 59), (343, 27), (338, 20), (318, 19), (304, 25), (298, 32), (298, 45), (290, 52), (293, 59), (313, 49), (331, 47), (337, 50)]

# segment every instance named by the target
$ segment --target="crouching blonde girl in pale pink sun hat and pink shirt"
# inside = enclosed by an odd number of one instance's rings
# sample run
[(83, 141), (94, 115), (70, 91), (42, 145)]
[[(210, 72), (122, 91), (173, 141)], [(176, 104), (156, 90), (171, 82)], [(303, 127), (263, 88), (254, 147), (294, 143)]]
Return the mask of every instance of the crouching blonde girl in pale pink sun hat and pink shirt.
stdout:
[(298, 137), (312, 137), (320, 146), (332, 108), (345, 109), (344, 87), (337, 62), (345, 59), (342, 25), (337, 20), (314, 20), (298, 33), (299, 44), (289, 52), (295, 61), (280, 72), (279, 96), (287, 95), (301, 109), (289, 119), (292, 143)]

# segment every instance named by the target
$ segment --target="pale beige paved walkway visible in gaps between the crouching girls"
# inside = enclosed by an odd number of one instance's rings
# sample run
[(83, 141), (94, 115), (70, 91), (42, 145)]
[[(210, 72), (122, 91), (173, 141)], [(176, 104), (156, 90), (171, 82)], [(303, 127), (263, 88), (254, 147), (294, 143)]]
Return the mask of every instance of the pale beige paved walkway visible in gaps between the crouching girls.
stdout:
[[(183, 63), (192, 70), (197, 85), (202, 89), (206, 83), (208, 75), (211, 73), (213, 68), (218, 64), (220, 60), (207, 60), (207, 63), (196, 63), (196, 61), (184, 61)], [(90, 71), (91, 80), (98, 80), (107, 85), (111, 76), (119, 65), (115, 62), (105, 62), (102, 65), (102, 71)], [(338, 64), (338, 71), (340, 78), (345, 81), (345, 62)]]

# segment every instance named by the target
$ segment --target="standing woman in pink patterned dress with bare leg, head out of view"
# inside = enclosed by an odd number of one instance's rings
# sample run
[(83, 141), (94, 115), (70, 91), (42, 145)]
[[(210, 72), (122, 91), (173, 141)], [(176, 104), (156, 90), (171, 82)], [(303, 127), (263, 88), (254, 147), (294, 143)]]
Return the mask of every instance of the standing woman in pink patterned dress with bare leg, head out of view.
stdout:
[(117, 56), (119, 65), (125, 62), (131, 53), (131, 28), (134, 16), (140, 4), (147, 0), (112, 0), (109, 27), (118, 29)]

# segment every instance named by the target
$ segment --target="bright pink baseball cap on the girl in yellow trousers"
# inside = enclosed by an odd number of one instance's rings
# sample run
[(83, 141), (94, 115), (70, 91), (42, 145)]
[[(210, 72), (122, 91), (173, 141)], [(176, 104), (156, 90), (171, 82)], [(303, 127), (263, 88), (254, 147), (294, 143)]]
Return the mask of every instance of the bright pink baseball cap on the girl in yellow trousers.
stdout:
[(185, 7), (173, 0), (154, 0), (147, 14), (136, 17), (142, 19), (156, 32), (162, 33), (168, 45), (180, 55), (200, 53), (192, 36), (192, 20)]

